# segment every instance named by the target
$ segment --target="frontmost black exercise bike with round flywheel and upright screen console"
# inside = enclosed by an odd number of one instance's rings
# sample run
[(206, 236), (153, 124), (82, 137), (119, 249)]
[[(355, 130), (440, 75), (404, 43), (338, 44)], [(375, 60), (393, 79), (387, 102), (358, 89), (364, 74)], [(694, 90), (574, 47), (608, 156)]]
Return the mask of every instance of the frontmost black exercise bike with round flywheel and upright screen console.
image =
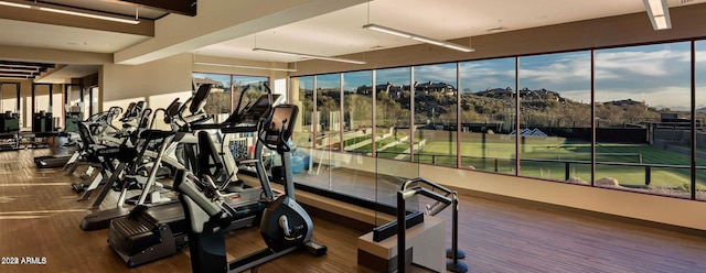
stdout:
[(260, 234), (267, 244), (264, 250), (227, 261), (224, 229), (235, 219), (234, 208), (224, 201), (225, 195), (217, 190), (211, 177), (178, 171), (174, 187), (191, 223), (189, 249), (193, 272), (242, 272), (302, 248), (314, 255), (325, 254), (325, 245), (311, 241), (313, 222), (295, 199), (288, 141), (298, 111), (292, 105), (275, 107), (270, 123), (263, 129), (264, 138), (258, 140), (277, 151), (285, 170), (285, 195), (269, 204), (263, 214)]

